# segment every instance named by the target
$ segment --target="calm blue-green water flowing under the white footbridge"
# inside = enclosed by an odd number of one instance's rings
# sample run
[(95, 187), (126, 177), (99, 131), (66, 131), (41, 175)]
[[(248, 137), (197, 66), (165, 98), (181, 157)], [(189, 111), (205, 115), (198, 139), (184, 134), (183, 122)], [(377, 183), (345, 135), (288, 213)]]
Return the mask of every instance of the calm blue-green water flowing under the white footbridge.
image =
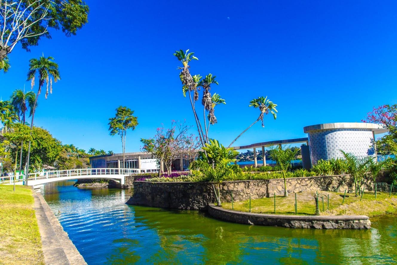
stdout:
[(314, 230), (217, 221), (125, 204), (131, 191), (47, 184), (43, 195), (88, 264), (382, 264), (397, 262), (397, 216), (372, 229)]

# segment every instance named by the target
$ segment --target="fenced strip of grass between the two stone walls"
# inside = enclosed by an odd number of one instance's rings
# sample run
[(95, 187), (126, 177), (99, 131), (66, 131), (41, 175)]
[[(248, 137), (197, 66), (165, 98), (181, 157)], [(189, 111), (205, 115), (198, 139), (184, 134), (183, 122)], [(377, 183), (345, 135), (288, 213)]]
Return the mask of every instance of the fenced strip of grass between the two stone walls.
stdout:
[[(315, 191), (296, 193), (298, 215), (314, 215), (316, 211), (315, 193)], [(389, 198), (389, 193), (378, 193), (375, 200), (374, 193), (364, 193), (362, 199), (355, 197), (354, 193), (347, 193), (345, 201), (343, 201), (343, 193), (319, 191), (318, 195), (320, 215), (367, 215), (373, 217), (397, 211), (396, 194), (392, 194)], [(251, 199), (251, 212), (274, 213), (274, 201), (274, 197)], [(249, 212), (250, 202), (249, 200), (233, 202), (233, 206), (232, 203), (222, 203), (222, 207)], [(288, 197), (276, 196), (276, 214), (295, 214), (295, 193), (290, 193)]]

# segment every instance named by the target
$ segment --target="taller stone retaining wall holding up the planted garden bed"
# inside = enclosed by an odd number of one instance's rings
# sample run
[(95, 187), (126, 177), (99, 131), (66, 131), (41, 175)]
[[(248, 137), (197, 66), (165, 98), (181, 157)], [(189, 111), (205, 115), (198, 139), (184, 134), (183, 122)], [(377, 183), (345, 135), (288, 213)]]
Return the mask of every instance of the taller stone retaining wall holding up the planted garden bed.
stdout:
[[(339, 191), (353, 192), (349, 175), (287, 178), (287, 191)], [(133, 196), (127, 201), (132, 205), (174, 209), (204, 209), (214, 203), (214, 190), (210, 182), (148, 182), (134, 181)], [(366, 190), (372, 190), (372, 181), (367, 180)], [(241, 180), (225, 181), (221, 184), (222, 201), (244, 201), (284, 194), (284, 180)]]

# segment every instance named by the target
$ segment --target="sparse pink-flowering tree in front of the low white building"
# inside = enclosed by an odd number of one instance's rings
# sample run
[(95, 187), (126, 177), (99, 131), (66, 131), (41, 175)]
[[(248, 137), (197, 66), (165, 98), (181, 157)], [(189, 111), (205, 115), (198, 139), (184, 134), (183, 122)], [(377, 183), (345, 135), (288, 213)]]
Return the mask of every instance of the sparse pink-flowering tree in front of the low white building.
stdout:
[(185, 122), (179, 123), (172, 120), (171, 128), (160, 127), (156, 130), (153, 138), (141, 139), (142, 151), (150, 153), (160, 166), (158, 176), (161, 174), (163, 163), (166, 165), (168, 174), (171, 174), (172, 161), (179, 157), (194, 159), (195, 150), (199, 146), (198, 137), (189, 134), (191, 126)]

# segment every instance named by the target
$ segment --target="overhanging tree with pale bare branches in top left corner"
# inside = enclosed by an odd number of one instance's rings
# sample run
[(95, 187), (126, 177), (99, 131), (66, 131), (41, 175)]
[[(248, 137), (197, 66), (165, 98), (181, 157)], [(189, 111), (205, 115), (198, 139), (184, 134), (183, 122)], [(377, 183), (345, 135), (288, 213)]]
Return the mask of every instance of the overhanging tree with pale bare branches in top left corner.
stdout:
[(87, 23), (89, 8), (82, 0), (16, 0), (0, 1), (0, 61), (17, 43), (30, 51), (48, 29), (60, 29), (67, 37), (75, 35)]

